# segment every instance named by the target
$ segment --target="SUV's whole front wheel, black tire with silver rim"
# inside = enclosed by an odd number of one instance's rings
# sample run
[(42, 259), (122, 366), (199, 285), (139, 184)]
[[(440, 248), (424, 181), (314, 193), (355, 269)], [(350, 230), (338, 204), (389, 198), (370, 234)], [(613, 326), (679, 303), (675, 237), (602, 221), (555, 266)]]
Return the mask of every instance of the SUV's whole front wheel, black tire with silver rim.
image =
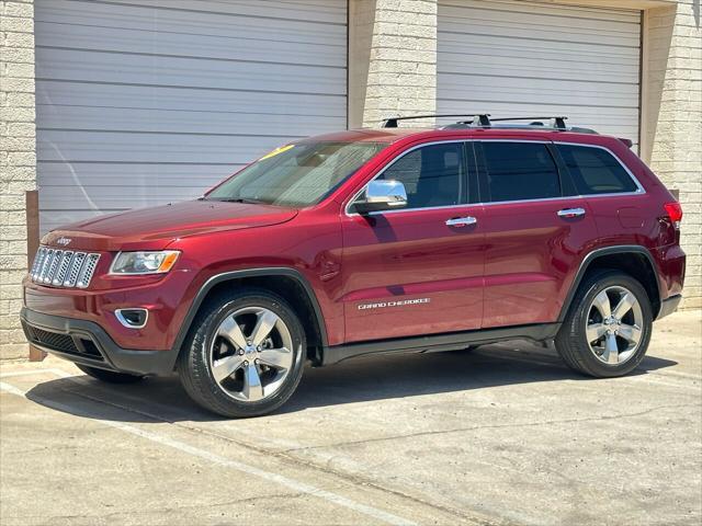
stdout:
[(183, 387), (223, 416), (269, 413), (295, 391), (305, 362), (305, 333), (281, 297), (241, 289), (205, 305), (178, 364)]

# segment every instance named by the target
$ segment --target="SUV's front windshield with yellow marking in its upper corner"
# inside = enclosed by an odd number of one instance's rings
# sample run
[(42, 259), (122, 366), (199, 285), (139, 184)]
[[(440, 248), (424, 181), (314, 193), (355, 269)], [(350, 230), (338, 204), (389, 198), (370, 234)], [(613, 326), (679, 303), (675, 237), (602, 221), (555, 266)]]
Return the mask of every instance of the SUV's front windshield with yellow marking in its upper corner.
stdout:
[(377, 142), (283, 146), (248, 165), (204, 198), (293, 207), (315, 205), (385, 146)]

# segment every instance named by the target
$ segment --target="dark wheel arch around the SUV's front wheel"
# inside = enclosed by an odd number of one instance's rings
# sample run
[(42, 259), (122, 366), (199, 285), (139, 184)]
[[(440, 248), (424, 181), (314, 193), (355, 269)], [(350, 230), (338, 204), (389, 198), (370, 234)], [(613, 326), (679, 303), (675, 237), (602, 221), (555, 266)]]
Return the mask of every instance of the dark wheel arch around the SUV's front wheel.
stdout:
[(302, 312), (299, 321), (307, 338), (308, 357), (320, 363), (321, 350), (328, 344), (321, 308), (312, 285), (299, 271), (290, 267), (248, 268), (212, 276), (200, 288), (185, 315), (173, 343), (173, 354), (180, 354), (195, 317), (206, 300), (233, 286), (253, 286), (269, 289), (282, 296), (297, 312)]

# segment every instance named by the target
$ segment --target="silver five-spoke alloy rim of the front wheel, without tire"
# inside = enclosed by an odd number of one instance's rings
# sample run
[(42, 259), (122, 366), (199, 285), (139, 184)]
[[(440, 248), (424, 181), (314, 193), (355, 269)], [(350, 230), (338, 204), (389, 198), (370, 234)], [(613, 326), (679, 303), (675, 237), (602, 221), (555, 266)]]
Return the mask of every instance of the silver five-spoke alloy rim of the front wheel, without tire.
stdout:
[(229, 397), (257, 402), (274, 395), (294, 364), (291, 332), (272, 310), (247, 307), (227, 316), (212, 342), (210, 366)]

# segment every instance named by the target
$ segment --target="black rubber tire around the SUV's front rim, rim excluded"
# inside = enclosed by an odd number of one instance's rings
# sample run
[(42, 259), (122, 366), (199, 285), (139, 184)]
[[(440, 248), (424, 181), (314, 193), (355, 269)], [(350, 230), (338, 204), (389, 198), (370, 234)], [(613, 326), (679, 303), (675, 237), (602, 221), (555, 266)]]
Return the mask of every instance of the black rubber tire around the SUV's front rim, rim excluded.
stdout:
[[(274, 393), (258, 401), (240, 401), (229, 396), (215, 379), (211, 365), (215, 332), (226, 318), (246, 308), (274, 312), (286, 325), (293, 342), (293, 365), (287, 376)], [(188, 395), (206, 410), (227, 418), (258, 416), (280, 408), (295, 392), (305, 354), (305, 331), (290, 305), (269, 290), (241, 288), (216, 296), (202, 307), (179, 355), (178, 373)]]

